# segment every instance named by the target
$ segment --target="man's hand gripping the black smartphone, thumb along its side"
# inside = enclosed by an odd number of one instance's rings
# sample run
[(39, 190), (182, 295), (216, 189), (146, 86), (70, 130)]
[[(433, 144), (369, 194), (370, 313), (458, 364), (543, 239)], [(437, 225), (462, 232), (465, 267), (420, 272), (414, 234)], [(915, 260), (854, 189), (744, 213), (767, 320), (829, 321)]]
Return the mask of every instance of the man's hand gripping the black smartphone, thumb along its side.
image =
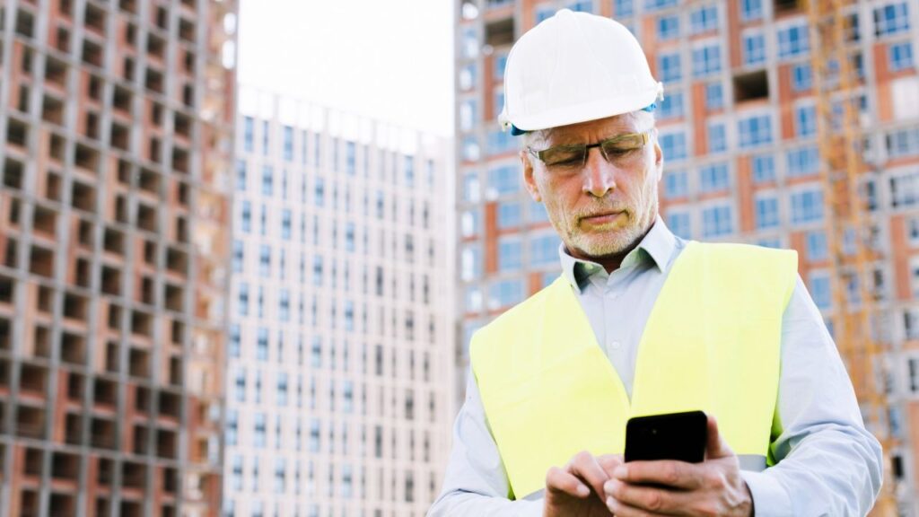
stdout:
[[(651, 486), (649, 486), (651, 485)], [(648, 515), (753, 515), (753, 498), (740, 463), (709, 416), (706, 460), (636, 461), (618, 465), (604, 485), (617, 517)]]

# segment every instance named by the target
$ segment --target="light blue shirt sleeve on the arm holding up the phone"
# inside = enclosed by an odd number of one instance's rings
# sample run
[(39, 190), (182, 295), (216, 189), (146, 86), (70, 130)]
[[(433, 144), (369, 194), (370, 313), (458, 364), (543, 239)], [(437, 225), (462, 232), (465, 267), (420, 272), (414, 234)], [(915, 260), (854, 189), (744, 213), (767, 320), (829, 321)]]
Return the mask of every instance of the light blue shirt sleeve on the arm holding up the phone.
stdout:
[(800, 277), (782, 317), (773, 442), (777, 462), (743, 471), (756, 517), (866, 515), (883, 456), (865, 429), (852, 382)]

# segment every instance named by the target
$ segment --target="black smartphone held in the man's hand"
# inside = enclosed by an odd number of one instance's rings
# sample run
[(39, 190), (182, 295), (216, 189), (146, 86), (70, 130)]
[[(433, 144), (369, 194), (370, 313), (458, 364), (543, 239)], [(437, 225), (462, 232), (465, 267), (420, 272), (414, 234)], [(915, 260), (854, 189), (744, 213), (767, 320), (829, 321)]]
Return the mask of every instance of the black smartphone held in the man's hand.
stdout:
[(631, 418), (626, 424), (625, 460), (700, 463), (705, 460), (708, 420), (704, 411)]

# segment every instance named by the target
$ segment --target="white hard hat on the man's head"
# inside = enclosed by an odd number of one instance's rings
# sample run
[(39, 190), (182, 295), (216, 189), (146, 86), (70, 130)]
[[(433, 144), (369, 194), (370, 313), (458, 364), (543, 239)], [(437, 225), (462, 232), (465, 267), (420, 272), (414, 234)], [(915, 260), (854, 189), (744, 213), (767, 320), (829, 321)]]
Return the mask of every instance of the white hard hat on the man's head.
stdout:
[(629, 29), (562, 9), (508, 54), (498, 120), (518, 134), (646, 109), (663, 96)]

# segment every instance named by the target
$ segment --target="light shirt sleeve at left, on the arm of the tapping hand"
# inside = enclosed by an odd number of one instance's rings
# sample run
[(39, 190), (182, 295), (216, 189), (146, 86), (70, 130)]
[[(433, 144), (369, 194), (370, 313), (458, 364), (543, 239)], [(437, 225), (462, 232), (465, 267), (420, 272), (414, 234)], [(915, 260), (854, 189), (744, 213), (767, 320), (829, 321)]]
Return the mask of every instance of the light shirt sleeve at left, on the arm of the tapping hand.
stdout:
[(505, 466), (488, 428), (482, 398), (473, 375), (466, 382), (466, 400), (453, 427), (444, 487), (427, 517), (540, 517), (541, 492), (532, 499), (510, 500)]

